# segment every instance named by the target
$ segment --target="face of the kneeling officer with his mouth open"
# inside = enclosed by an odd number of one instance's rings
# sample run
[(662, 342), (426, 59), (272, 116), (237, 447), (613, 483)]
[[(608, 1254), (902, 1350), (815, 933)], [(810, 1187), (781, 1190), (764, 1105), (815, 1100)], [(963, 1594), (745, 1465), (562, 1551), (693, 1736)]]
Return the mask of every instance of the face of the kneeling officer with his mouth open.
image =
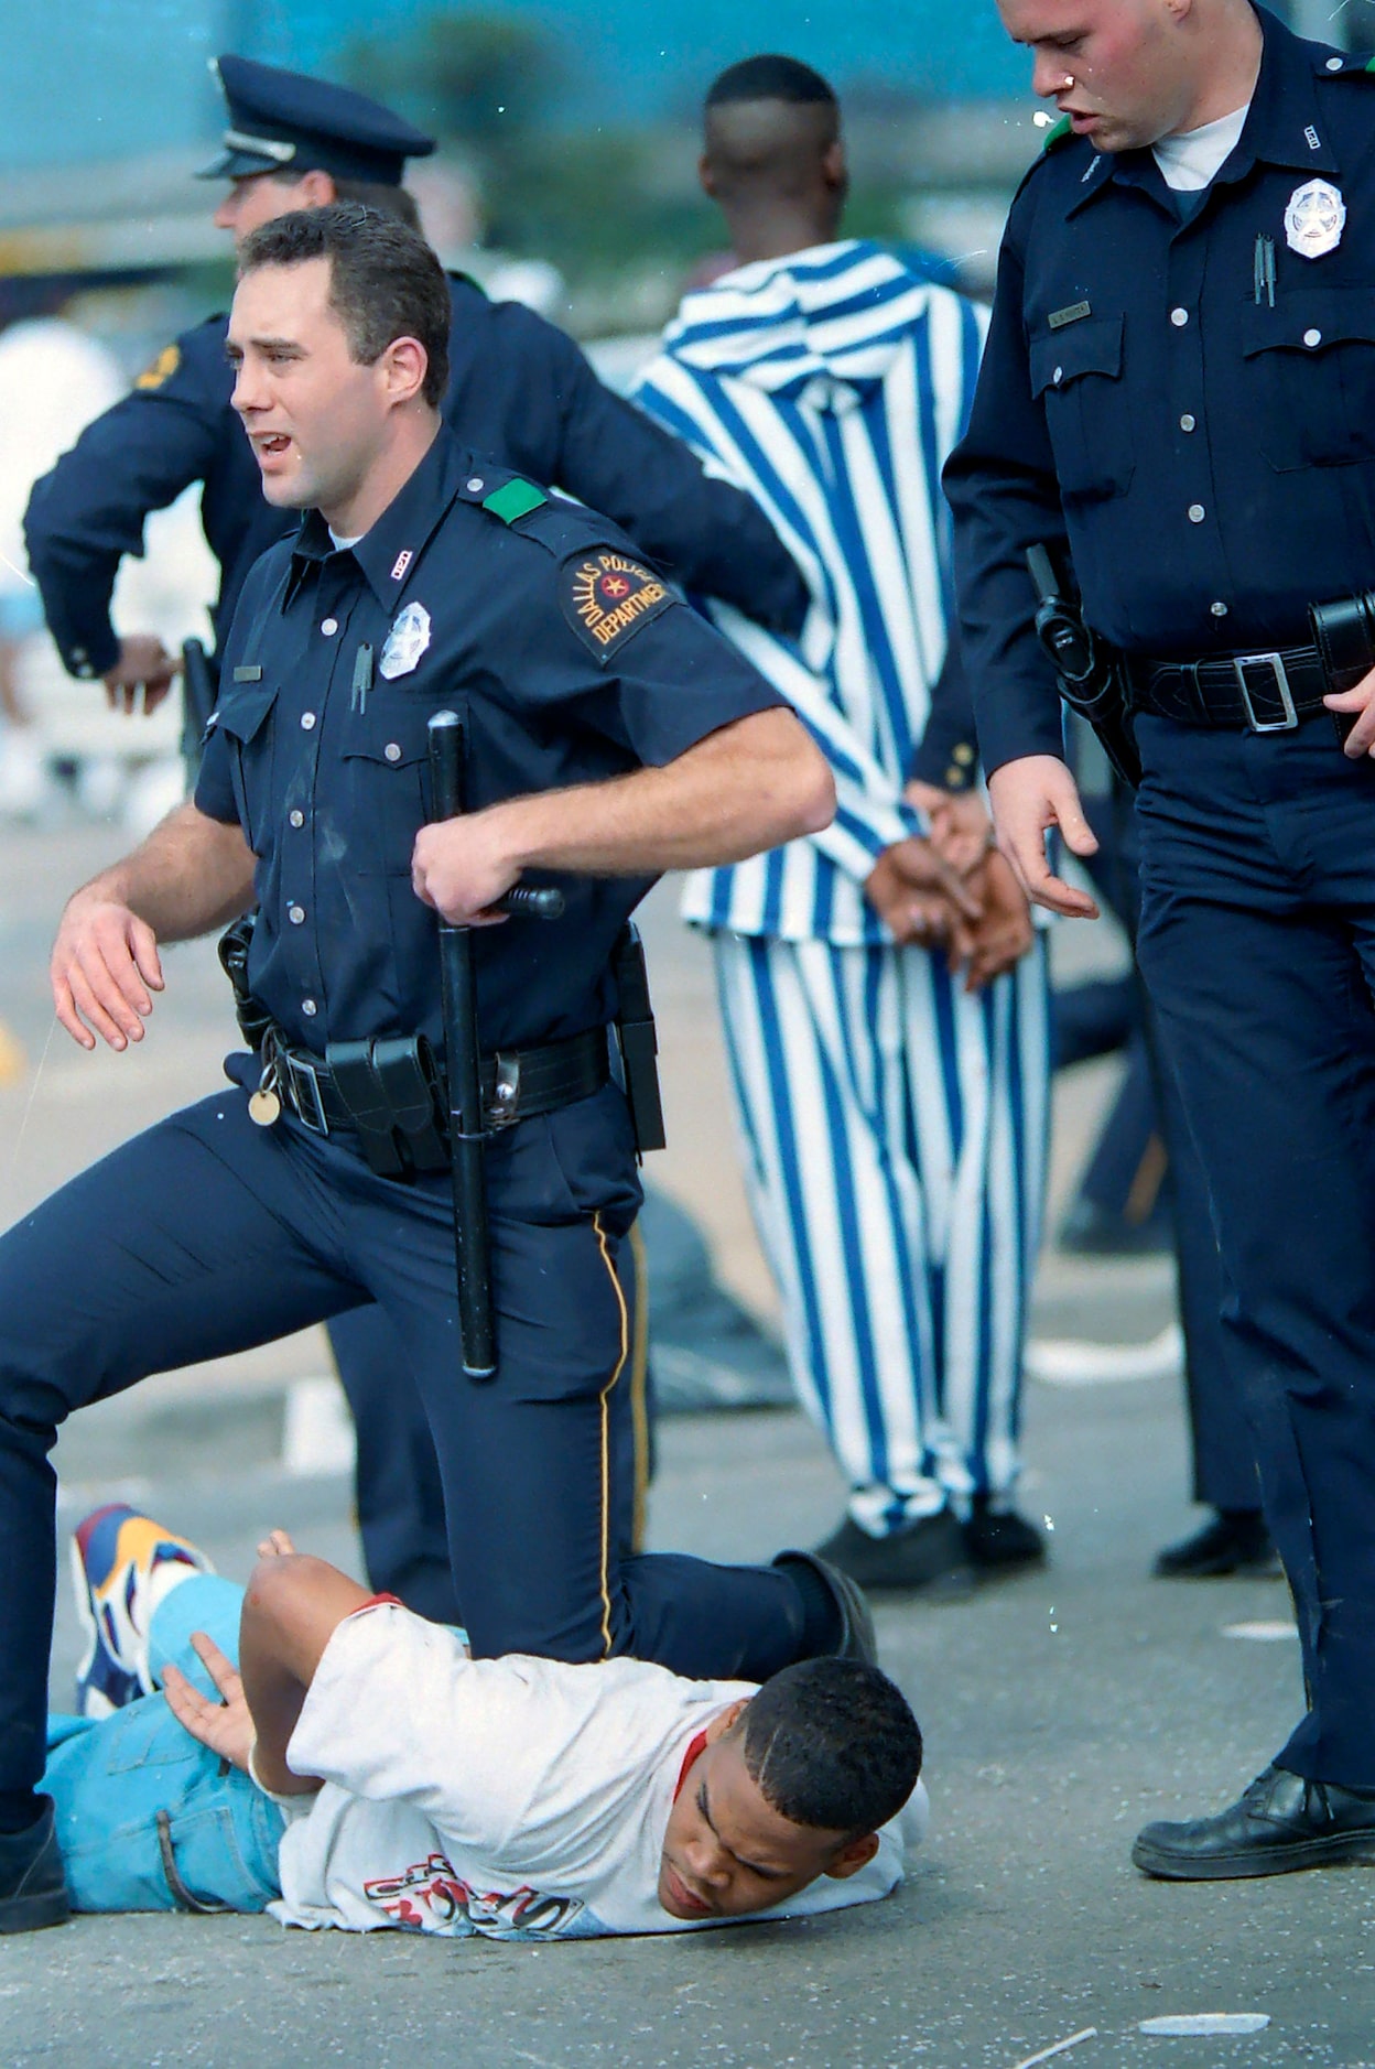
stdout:
[[(277, 509), (352, 505), (387, 443), (395, 403), (397, 339), (362, 366), (329, 300), (331, 261), (254, 267), (238, 283), (227, 354), (263, 494)], [(424, 354), (420, 356), (424, 374)]]

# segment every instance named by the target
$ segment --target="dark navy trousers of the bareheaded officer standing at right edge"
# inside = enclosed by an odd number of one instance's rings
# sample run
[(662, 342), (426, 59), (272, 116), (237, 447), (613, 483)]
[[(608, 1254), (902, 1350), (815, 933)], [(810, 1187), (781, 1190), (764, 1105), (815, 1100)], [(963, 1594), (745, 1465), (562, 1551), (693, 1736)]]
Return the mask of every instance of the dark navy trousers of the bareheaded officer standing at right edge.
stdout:
[(1309, 1713), (1280, 1765), (1375, 1788), (1375, 766), (1327, 716), (1139, 716), (1137, 741), (1137, 954), (1303, 1641)]

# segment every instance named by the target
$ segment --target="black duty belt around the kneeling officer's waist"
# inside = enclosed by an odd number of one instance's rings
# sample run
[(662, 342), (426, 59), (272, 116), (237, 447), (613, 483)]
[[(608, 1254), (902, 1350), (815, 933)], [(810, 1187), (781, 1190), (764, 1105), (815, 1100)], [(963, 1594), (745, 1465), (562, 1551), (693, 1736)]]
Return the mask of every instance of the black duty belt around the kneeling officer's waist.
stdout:
[[(349, 1045), (362, 1049), (364, 1045)], [(374, 1051), (385, 1043), (368, 1045)], [(401, 1049), (403, 1045), (395, 1045)], [(405, 1045), (414, 1053), (414, 1045)], [(341, 1076), (312, 1049), (298, 1049), (271, 1024), (263, 1041), (263, 1088), (277, 1095), (302, 1128), (316, 1136), (335, 1130), (368, 1134), (358, 1092), (343, 1097)], [(500, 1049), (482, 1057), (482, 1126), (486, 1130), (515, 1128), (540, 1113), (554, 1113), (575, 1099), (591, 1099), (610, 1078), (606, 1028), (569, 1034), (567, 1041), (544, 1043), (540, 1049)], [(261, 1088), (261, 1090), (263, 1090)], [(430, 1066), (426, 1092), (436, 1115), (447, 1113), (442, 1074)], [(258, 1097), (258, 1095), (254, 1095)], [(430, 1099), (426, 1103), (430, 1103)], [(267, 1119), (269, 1115), (265, 1115)], [(399, 1115), (389, 1115), (389, 1119)], [(428, 1115), (426, 1115), (428, 1119)], [(407, 1130), (409, 1132), (409, 1130)]]

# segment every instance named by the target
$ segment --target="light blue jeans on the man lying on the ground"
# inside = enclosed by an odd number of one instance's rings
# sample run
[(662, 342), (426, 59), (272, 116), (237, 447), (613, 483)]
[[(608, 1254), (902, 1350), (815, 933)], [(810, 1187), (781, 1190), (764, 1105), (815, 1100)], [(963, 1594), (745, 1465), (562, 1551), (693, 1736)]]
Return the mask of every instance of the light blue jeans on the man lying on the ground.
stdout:
[[(174, 1661), (213, 1695), (190, 1632), (207, 1630), (238, 1659), (242, 1599), (242, 1587), (213, 1575), (174, 1587), (153, 1616), (153, 1678)], [(281, 1810), (238, 1767), (221, 1767), (163, 1695), (112, 1717), (50, 1717), (41, 1786), (56, 1804), (72, 1908), (261, 1912), (281, 1895)]]

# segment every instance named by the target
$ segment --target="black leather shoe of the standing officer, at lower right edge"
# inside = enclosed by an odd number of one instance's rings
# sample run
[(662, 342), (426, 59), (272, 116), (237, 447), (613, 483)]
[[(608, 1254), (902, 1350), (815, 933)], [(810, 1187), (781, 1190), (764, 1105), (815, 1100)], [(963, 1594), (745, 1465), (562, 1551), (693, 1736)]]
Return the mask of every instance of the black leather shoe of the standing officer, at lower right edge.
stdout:
[(1340, 1860), (1375, 1862), (1375, 1790), (1305, 1781), (1267, 1767), (1241, 1802), (1187, 1825), (1148, 1825), (1131, 1848), (1137, 1868), (1172, 1883), (1292, 1875)]

